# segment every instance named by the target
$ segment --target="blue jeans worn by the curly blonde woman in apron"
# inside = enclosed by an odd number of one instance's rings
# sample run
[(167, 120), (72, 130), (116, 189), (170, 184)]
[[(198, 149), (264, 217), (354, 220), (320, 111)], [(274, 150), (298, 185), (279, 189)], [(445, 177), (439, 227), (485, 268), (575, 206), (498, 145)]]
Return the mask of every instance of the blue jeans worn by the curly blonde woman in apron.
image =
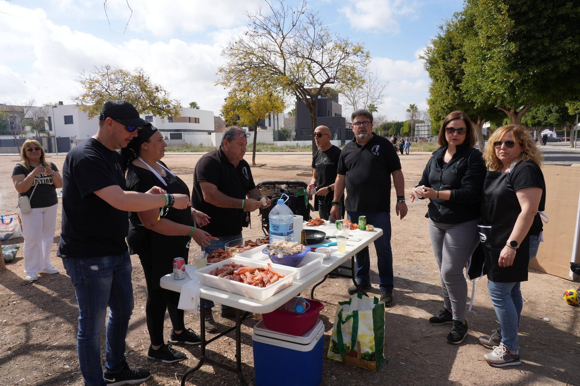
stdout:
[(488, 280), (487, 290), (495, 308), (495, 315), (498, 316), (502, 343), (511, 351), (516, 351), (519, 349), (517, 327), (520, 325), (521, 308), (523, 308), (520, 282), (498, 283)]

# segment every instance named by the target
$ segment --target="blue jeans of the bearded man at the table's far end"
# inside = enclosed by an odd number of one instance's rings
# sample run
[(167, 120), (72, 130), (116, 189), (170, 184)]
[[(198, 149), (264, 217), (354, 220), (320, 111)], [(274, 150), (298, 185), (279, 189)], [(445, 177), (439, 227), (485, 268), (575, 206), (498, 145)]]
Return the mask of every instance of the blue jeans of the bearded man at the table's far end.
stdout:
[[(349, 220), (358, 224), (358, 216), (367, 216), (367, 224), (383, 230), (383, 235), (375, 240), (376, 265), (379, 268), (379, 288), (393, 290), (393, 252), (391, 251), (391, 214), (389, 212), (348, 212)], [(357, 282), (371, 282), (371, 258), (368, 247), (354, 255), (357, 262)]]

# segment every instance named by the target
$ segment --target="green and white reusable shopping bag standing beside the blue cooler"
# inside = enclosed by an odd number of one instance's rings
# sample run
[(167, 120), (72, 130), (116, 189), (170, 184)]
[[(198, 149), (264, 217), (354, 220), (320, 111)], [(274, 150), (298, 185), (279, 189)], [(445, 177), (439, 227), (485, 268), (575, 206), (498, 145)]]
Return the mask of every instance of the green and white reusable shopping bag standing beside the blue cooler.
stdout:
[(362, 293), (339, 301), (328, 358), (376, 372), (385, 362), (385, 303)]

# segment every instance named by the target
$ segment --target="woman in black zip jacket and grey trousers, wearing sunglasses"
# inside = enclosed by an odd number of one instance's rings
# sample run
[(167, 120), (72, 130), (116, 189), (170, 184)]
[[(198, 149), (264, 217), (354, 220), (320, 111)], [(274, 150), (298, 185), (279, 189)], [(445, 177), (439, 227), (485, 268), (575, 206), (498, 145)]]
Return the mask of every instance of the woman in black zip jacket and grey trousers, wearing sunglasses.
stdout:
[[(477, 221), (485, 179), (482, 154), (474, 148), (475, 132), (462, 111), (447, 115), (441, 125), (440, 145), (427, 162), (419, 185), (411, 191), (411, 202), (429, 198), (429, 237), (437, 260), (443, 289), (444, 309), (429, 322), (452, 323), (447, 342), (462, 343), (467, 335), (465, 303), (467, 283), (463, 268), (477, 243)], [(415, 193), (415, 194), (414, 194)]]

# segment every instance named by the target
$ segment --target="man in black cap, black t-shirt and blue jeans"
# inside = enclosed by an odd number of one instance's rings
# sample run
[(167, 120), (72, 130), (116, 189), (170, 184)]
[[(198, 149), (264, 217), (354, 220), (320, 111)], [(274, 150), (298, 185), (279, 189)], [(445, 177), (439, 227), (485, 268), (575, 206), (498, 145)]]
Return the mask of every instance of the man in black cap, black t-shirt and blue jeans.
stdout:
[[(125, 337), (133, 311), (131, 259), (125, 237), (128, 211), (190, 206), (187, 195), (168, 195), (159, 187), (147, 193), (125, 191), (116, 149), (124, 148), (137, 129), (150, 125), (131, 103), (107, 102), (95, 136), (68, 152), (63, 167), (63, 212), (57, 255), (71, 277), (79, 308), (77, 354), (85, 385), (124, 385), (147, 380), (151, 373), (129, 367)], [(109, 307), (105, 372), (100, 335)]]

